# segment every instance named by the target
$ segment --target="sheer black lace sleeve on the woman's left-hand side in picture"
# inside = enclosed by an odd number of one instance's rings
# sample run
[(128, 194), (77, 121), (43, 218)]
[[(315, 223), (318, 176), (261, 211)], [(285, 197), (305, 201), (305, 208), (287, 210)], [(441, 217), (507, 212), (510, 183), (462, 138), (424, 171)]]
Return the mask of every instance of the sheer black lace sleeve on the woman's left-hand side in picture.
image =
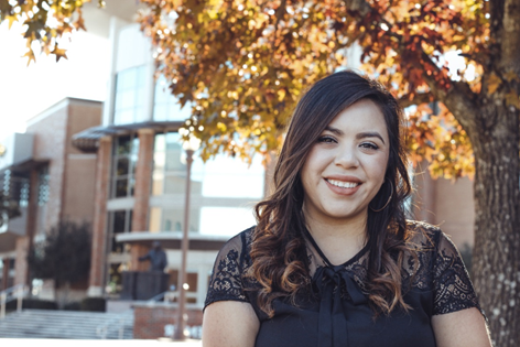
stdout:
[(242, 286), (242, 249), (246, 248), (243, 241), (245, 237), (241, 232), (227, 241), (218, 252), (204, 308), (217, 301), (249, 302)]

